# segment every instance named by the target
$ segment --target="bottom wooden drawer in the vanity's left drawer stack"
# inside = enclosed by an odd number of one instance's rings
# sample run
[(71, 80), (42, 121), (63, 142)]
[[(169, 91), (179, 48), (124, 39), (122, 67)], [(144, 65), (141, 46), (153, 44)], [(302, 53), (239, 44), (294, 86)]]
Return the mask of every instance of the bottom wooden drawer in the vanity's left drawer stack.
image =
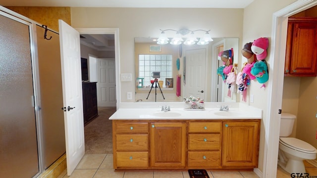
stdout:
[(148, 152), (116, 152), (117, 167), (148, 167)]

